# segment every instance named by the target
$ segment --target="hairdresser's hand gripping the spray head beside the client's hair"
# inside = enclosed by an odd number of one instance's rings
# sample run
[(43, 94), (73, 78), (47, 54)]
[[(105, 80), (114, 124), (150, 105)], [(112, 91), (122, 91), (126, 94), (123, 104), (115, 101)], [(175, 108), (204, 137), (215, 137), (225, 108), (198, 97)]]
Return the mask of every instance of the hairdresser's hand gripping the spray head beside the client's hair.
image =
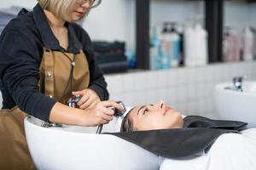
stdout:
[(100, 101), (90, 109), (86, 109), (86, 120), (85, 126), (97, 126), (100, 124), (107, 124), (113, 120), (114, 111), (109, 107), (114, 107), (118, 110), (123, 110), (122, 106), (114, 101)]

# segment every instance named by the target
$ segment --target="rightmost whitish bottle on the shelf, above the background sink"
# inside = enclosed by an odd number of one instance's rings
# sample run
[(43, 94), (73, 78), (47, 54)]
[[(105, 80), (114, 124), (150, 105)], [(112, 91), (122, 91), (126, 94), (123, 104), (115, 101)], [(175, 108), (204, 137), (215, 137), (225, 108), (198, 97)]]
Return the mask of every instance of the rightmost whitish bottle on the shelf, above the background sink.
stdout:
[(242, 58), (244, 60), (253, 60), (254, 35), (250, 27), (245, 27), (242, 34)]

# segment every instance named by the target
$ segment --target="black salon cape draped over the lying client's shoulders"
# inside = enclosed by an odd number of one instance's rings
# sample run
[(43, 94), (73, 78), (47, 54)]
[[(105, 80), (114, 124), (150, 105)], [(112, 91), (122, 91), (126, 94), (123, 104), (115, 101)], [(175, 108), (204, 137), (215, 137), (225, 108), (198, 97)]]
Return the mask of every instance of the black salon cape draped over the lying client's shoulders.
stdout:
[(183, 128), (108, 134), (137, 144), (158, 156), (175, 159), (207, 151), (221, 134), (239, 133), (246, 125), (246, 122), (187, 116), (183, 119)]

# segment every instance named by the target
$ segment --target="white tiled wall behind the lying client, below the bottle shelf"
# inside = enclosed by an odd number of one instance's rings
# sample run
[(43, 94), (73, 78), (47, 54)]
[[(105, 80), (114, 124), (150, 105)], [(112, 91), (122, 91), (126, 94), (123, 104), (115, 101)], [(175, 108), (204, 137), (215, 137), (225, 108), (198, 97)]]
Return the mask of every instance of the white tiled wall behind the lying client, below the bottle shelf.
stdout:
[(122, 100), (125, 105), (154, 104), (163, 99), (184, 115), (218, 118), (213, 102), (215, 84), (241, 75), (256, 80), (256, 62), (106, 75), (106, 81), (110, 99)]

